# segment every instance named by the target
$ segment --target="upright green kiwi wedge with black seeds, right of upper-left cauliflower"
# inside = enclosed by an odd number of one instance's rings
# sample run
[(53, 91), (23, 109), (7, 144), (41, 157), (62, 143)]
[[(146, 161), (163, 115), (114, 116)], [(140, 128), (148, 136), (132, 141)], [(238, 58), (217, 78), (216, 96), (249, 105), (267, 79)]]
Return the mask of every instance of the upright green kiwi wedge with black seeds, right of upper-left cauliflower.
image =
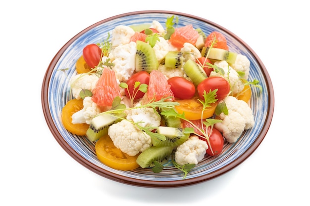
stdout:
[(144, 41), (137, 41), (137, 52), (136, 52), (136, 72), (146, 71), (151, 72), (152, 70), (158, 69), (158, 60), (155, 54), (155, 50), (149, 43)]

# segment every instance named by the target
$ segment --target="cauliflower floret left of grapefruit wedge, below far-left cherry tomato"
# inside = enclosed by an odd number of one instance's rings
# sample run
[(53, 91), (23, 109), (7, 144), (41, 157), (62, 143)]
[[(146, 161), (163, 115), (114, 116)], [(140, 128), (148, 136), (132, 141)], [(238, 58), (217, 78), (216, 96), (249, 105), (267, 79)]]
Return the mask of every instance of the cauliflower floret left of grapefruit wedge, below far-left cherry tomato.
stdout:
[(88, 89), (93, 91), (96, 87), (96, 83), (99, 80), (99, 76), (96, 74), (77, 74), (71, 77), (69, 84), (72, 90), (72, 95), (76, 99), (81, 99), (80, 92), (82, 89)]

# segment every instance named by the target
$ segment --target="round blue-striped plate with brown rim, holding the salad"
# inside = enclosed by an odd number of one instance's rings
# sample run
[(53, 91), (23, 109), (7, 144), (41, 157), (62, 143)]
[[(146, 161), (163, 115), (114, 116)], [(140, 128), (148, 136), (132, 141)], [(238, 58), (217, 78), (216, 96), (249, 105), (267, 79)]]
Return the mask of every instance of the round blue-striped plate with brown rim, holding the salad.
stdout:
[[(165, 25), (167, 17), (177, 15), (179, 26), (193, 24), (206, 34), (212, 31), (223, 33), (231, 51), (246, 55), (251, 61), (250, 80), (257, 79), (262, 92), (252, 90), (251, 108), (255, 125), (246, 130), (233, 144), (225, 143), (219, 156), (206, 158), (183, 178), (183, 173), (166, 167), (160, 173), (151, 169), (138, 168), (133, 171), (121, 171), (103, 165), (96, 157), (95, 144), (84, 136), (69, 133), (61, 123), (61, 109), (73, 97), (70, 94), (68, 79), (76, 74), (75, 63), (82, 55), (84, 46), (105, 40), (108, 33), (118, 25), (152, 23), (157, 20)], [(66, 75), (61, 69), (66, 69)], [(206, 19), (173, 11), (138, 11), (125, 13), (104, 19), (77, 34), (69, 40), (52, 59), (42, 85), (43, 112), (50, 130), (60, 146), (76, 161), (103, 177), (125, 184), (142, 187), (178, 187), (206, 181), (223, 174), (242, 163), (259, 146), (271, 124), (274, 110), (274, 94), (270, 77), (256, 53), (240, 38), (227, 29)]]

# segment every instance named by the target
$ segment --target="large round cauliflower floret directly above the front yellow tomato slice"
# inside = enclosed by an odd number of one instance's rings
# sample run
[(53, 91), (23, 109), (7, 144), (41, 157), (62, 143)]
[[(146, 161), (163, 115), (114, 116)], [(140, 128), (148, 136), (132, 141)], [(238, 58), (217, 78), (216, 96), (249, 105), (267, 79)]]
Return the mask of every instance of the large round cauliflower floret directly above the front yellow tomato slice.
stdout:
[(135, 156), (152, 146), (151, 137), (127, 120), (112, 124), (107, 134), (111, 137), (115, 147), (129, 156)]

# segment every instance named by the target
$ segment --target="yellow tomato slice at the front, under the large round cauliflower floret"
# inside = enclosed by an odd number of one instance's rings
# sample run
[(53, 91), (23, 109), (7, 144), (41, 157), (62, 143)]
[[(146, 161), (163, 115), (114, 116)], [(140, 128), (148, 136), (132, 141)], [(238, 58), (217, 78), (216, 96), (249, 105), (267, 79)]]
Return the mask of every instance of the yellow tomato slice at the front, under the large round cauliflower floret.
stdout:
[(101, 137), (95, 145), (97, 158), (104, 164), (114, 169), (133, 170), (139, 165), (136, 160), (139, 156), (129, 156), (116, 148), (108, 135)]

